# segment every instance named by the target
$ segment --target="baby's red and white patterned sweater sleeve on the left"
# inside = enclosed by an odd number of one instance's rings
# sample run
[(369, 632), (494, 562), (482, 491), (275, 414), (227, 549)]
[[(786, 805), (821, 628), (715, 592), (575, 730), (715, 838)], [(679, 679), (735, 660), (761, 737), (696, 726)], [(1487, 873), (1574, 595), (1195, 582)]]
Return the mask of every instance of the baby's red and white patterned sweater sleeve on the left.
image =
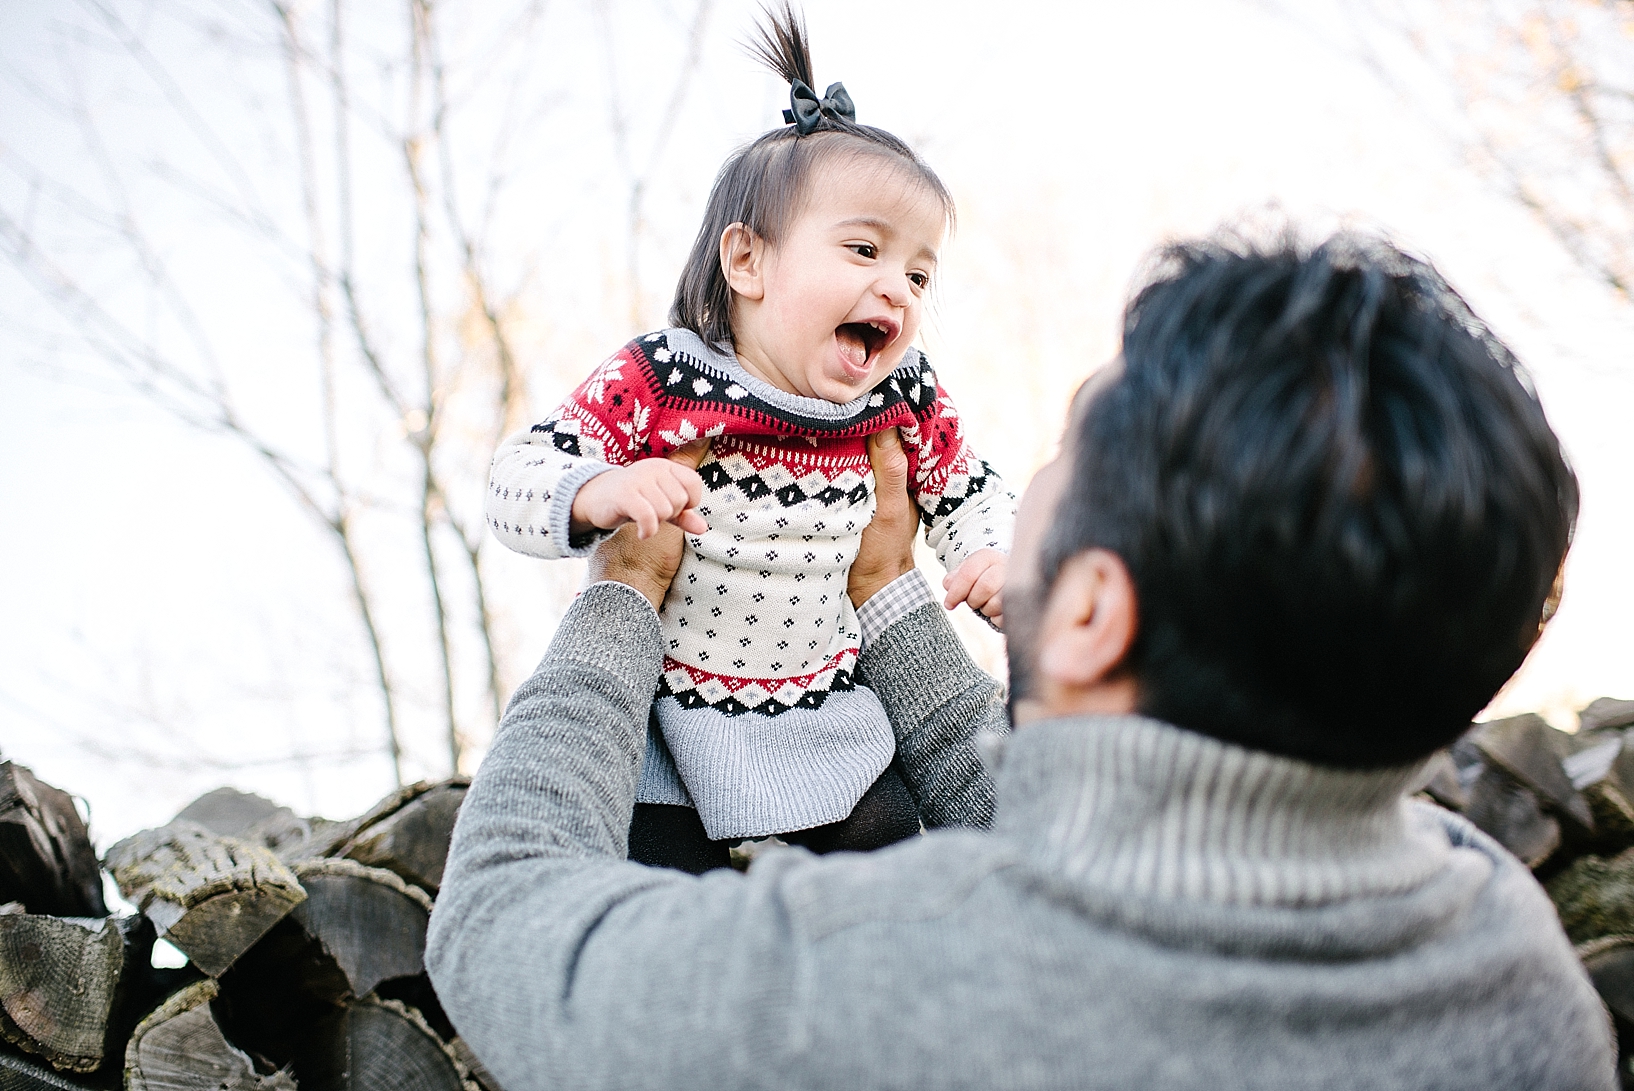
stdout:
[(659, 392), (626, 346), (554, 413), (507, 439), (489, 469), (493, 537), (531, 557), (583, 557), (608, 532), (572, 534), (574, 497), (598, 474), (647, 457)]

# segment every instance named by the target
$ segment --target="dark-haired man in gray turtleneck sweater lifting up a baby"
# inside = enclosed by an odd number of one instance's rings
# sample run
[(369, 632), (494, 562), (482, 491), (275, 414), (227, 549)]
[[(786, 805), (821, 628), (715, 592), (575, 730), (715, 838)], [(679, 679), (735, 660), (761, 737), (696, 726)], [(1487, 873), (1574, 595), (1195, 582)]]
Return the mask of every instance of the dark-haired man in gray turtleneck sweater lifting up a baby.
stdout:
[[(997, 688), (910, 572), (889, 444), (876, 474), (861, 670), (926, 825), (982, 825)], [(467, 797), (438, 995), (507, 1091), (1611, 1088), (1531, 875), (1407, 799), (1536, 640), (1575, 508), (1430, 268), (1173, 247), (1021, 505), (992, 831), (623, 861), (680, 544), (626, 547)]]

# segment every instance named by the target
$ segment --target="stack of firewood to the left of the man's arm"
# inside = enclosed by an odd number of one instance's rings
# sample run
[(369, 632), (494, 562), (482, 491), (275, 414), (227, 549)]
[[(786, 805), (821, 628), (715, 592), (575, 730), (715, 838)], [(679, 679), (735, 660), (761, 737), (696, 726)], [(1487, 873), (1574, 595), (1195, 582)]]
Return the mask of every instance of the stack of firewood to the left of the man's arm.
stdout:
[(0, 1088), (498, 1091), (425, 973), (467, 784), (351, 822), (219, 789), (98, 864), (74, 800), (0, 764)]

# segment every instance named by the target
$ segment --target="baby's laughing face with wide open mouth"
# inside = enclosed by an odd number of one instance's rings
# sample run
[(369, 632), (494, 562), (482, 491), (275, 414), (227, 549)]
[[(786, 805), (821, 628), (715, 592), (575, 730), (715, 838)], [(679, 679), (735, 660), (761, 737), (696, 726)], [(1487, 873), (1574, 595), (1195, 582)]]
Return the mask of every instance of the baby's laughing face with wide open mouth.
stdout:
[(948, 220), (936, 194), (887, 163), (838, 158), (807, 185), (806, 207), (732, 301), (734, 348), (789, 394), (850, 402), (918, 335)]

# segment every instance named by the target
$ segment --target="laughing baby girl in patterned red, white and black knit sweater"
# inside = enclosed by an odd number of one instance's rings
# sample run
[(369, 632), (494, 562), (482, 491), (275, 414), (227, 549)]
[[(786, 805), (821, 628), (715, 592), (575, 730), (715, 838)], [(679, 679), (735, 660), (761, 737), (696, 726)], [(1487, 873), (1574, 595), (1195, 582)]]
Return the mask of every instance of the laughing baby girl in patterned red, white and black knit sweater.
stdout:
[[(874, 511), (868, 436), (900, 430), (948, 606), (1002, 621), (1015, 497), (913, 348), (953, 199), (900, 139), (812, 90), (784, 8), (757, 52), (786, 127), (727, 160), (672, 328), (605, 361), (493, 459), (489, 523), (534, 557), (616, 528), (686, 534), (631, 857), (703, 871), (742, 838), (876, 848), (918, 830), (886, 712), (855, 673), (846, 572)], [(698, 469), (665, 456), (708, 441)], [(824, 831), (822, 838), (810, 838)]]

